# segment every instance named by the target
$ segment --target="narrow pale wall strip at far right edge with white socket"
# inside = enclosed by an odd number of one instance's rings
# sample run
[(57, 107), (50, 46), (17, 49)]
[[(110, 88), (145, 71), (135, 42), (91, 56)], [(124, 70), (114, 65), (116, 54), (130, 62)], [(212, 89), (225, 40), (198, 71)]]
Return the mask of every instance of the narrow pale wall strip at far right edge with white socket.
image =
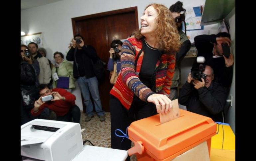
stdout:
[[(225, 18), (225, 20), (228, 21), (229, 26), (230, 26), (230, 36), (231, 36), (231, 40), (232, 40), (232, 44), (231, 44), (231, 52), (234, 54), (235, 57), (235, 8), (227, 15), (227, 17)], [(236, 60), (236, 59), (235, 59)], [(233, 101), (232, 101), (232, 107), (229, 108), (228, 114), (227, 114), (227, 123), (230, 124), (233, 132), (235, 133), (235, 129), (236, 129), (236, 122), (235, 122), (235, 67), (236, 67), (236, 61), (234, 62), (234, 66), (233, 66), (233, 79), (232, 79), (232, 85), (230, 88), (230, 93), (233, 96)]]

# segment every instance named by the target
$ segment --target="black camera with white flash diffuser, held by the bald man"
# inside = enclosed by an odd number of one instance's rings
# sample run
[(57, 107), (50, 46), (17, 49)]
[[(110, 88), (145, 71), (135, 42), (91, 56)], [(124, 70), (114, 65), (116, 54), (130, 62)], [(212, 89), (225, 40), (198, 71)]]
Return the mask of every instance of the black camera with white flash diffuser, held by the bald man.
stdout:
[(205, 74), (203, 74), (202, 72), (204, 71), (204, 61), (205, 58), (203, 56), (198, 56), (196, 58), (196, 62), (199, 63), (198, 68), (196, 69), (192, 69), (191, 71), (191, 77), (193, 79), (197, 79), (199, 81), (201, 81), (201, 78), (203, 78), (205, 80)]

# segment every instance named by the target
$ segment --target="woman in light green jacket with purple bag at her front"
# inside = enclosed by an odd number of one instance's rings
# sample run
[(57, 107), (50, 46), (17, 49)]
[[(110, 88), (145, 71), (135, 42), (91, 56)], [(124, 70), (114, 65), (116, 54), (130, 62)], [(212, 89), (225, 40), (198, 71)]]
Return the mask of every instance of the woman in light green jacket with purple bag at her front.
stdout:
[(71, 92), (71, 89), (75, 88), (75, 79), (73, 77), (73, 64), (64, 60), (64, 55), (61, 52), (56, 51), (53, 55), (56, 61), (56, 64), (52, 69), (53, 88), (58, 88), (58, 80), (56, 80), (54, 77), (54, 74), (56, 73), (58, 77), (69, 77), (69, 86), (66, 90), (68, 92)]

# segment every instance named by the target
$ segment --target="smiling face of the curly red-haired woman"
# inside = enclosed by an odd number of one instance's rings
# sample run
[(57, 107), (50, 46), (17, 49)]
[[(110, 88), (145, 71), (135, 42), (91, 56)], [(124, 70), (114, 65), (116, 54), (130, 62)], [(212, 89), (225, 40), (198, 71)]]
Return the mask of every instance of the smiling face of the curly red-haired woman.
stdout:
[(145, 37), (155, 37), (155, 31), (157, 24), (155, 19), (157, 17), (157, 11), (153, 6), (149, 6), (141, 16), (141, 34)]

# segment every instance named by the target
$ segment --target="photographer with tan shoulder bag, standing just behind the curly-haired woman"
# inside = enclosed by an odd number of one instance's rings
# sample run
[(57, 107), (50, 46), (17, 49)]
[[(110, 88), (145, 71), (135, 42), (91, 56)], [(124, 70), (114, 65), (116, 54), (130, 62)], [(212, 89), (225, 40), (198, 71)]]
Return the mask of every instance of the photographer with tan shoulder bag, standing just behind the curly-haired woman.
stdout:
[[(109, 60), (107, 68), (110, 71), (110, 83), (115, 84), (117, 75), (121, 70), (121, 54), (122, 54), (122, 45), (121, 40), (113, 40), (110, 44), (111, 48), (109, 50)], [(115, 78), (113, 78), (115, 77)]]

